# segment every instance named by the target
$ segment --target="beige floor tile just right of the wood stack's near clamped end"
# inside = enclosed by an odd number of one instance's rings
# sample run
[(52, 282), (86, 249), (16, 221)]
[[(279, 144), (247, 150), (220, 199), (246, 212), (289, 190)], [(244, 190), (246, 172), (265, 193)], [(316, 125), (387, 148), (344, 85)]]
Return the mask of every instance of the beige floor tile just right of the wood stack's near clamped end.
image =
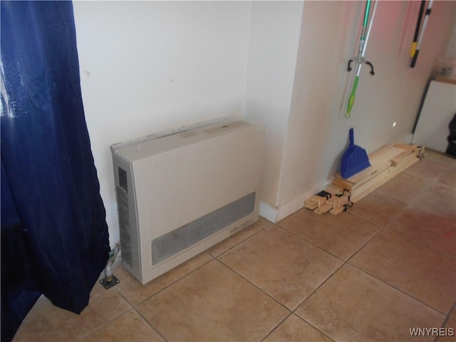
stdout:
[(385, 227), (407, 204), (377, 189), (356, 202), (348, 212)]

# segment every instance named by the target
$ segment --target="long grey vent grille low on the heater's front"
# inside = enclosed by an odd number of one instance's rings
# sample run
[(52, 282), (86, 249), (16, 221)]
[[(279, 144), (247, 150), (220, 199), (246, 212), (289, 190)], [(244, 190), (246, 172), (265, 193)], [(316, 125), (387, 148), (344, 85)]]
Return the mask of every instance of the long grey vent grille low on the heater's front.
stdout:
[(155, 265), (254, 212), (256, 192), (195, 219), (152, 241)]

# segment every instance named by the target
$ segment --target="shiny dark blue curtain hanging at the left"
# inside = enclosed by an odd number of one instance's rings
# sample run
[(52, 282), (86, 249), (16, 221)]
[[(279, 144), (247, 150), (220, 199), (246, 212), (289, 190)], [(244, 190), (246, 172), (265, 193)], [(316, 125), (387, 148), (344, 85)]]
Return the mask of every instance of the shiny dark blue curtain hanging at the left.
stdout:
[(1, 341), (44, 294), (80, 313), (110, 252), (71, 1), (1, 1)]

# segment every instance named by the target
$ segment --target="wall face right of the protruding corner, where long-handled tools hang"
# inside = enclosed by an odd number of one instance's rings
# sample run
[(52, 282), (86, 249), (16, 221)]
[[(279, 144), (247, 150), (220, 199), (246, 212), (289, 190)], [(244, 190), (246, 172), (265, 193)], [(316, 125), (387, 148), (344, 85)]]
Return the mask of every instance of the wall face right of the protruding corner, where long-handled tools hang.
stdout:
[[(366, 66), (351, 118), (344, 118), (354, 71), (364, 4), (359, 1), (306, 1), (301, 26), (293, 99), (284, 142), (279, 190), (281, 205), (328, 180), (338, 170), (355, 128), (358, 145), (373, 152), (410, 135), (435, 61), (445, 56), (455, 22), (455, 1), (435, 1), (415, 68), (410, 68), (420, 1), (380, 1)], [(393, 127), (393, 123), (395, 127)]]

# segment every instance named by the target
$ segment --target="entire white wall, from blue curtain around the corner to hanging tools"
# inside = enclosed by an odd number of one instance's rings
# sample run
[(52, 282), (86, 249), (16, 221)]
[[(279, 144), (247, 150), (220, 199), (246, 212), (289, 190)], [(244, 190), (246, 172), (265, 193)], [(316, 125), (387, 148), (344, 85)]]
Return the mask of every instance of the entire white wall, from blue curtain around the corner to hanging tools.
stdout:
[(338, 169), (350, 127), (368, 152), (410, 135), (435, 61), (454, 46), (456, 2), (435, 1), (410, 69), (420, 1), (380, 1), (366, 52), (376, 74), (363, 67), (346, 119), (354, 76), (346, 63), (357, 50), (364, 2), (73, 4), (111, 245), (119, 239), (113, 143), (222, 116), (256, 119), (266, 128), (263, 202), (289, 214)]

